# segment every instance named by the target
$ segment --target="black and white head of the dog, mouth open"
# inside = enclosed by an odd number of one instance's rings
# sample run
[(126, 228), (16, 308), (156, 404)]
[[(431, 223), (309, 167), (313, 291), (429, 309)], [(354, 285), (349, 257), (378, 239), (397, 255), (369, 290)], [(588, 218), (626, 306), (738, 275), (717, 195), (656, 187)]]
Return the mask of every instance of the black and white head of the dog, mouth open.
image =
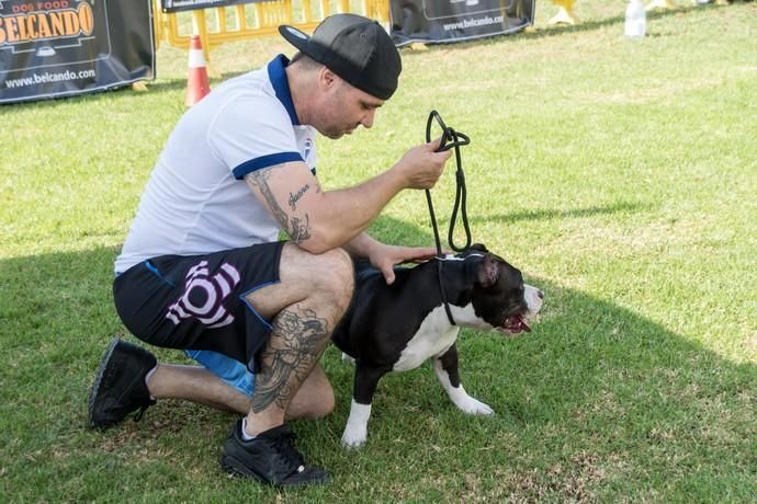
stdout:
[(459, 324), (509, 335), (531, 332), (529, 319), (541, 309), (544, 294), (524, 284), (520, 270), (478, 243), (455, 259), (463, 260), (466, 283), (459, 299), (465, 308), (455, 312)]

